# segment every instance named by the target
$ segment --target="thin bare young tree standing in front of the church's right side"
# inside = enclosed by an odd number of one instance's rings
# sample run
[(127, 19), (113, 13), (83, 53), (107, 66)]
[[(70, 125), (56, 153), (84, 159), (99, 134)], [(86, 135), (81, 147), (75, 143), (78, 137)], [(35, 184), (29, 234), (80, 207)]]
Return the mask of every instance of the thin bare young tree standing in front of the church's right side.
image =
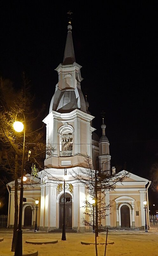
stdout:
[[(106, 193), (108, 191), (114, 191), (117, 183), (122, 182), (129, 176), (127, 171), (121, 171), (115, 173), (115, 171), (107, 170), (100, 172), (100, 170), (94, 170), (92, 161), (89, 156), (85, 158), (87, 168), (80, 169), (79, 173), (74, 172), (72, 177), (79, 180), (85, 185), (86, 192), (89, 198), (95, 199), (95, 248), (96, 256), (97, 252), (97, 237), (99, 236), (99, 223), (101, 219), (106, 219), (107, 210), (109, 210), (113, 204), (113, 201), (105, 202)], [(93, 203), (90, 199), (85, 199), (85, 212), (86, 218), (83, 218), (83, 223), (86, 226), (93, 226)]]

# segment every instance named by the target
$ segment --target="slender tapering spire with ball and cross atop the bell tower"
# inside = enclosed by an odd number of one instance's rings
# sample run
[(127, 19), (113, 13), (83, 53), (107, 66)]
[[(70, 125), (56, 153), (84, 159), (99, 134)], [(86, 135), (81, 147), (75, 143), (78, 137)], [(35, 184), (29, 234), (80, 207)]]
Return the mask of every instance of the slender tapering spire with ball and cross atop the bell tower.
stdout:
[(63, 58), (63, 65), (73, 64), (75, 62), (75, 53), (73, 48), (73, 41), (72, 41), (72, 25), (71, 25), (71, 15), (72, 12), (68, 11), (68, 33), (67, 33), (67, 39), (66, 39), (66, 45), (65, 45), (65, 52), (64, 52), (64, 58)]

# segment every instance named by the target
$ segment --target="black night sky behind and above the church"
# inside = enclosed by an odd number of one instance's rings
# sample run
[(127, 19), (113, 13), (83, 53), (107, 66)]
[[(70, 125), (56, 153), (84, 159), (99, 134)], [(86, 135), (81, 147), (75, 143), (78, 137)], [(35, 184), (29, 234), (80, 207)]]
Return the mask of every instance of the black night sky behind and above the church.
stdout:
[[(25, 72), (36, 107), (46, 104), (46, 116), (71, 10), (76, 63), (82, 66), (81, 89), (95, 116), (93, 127), (101, 136), (104, 111), (112, 166), (149, 179), (158, 159), (158, 2), (41, 2), (1, 1), (0, 76), (18, 88)], [(152, 195), (150, 205), (156, 205), (157, 193)]]

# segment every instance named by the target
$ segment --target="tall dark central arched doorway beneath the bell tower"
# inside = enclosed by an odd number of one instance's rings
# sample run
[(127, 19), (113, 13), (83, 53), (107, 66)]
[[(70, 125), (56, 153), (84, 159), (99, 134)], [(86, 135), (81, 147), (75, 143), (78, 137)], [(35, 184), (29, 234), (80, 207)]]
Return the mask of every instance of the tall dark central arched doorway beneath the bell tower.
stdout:
[[(63, 228), (64, 194), (59, 200), (59, 229)], [(72, 229), (72, 196), (65, 193), (65, 228)]]

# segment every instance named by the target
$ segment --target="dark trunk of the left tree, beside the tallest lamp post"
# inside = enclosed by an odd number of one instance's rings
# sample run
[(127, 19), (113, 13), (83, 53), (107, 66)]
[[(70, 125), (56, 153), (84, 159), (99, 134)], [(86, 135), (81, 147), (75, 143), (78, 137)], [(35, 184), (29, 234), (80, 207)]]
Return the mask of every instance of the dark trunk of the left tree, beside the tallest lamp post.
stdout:
[(18, 223), (18, 200), (17, 200), (17, 190), (18, 190), (18, 156), (15, 155), (15, 195), (14, 195), (14, 203), (15, 203), (15, 213), (14, 213), (14, 228), (13, 228), (13, 239), (11, 245), (11, 252), (15, 252), (15, 246), (17, 241), (17, 223)]

